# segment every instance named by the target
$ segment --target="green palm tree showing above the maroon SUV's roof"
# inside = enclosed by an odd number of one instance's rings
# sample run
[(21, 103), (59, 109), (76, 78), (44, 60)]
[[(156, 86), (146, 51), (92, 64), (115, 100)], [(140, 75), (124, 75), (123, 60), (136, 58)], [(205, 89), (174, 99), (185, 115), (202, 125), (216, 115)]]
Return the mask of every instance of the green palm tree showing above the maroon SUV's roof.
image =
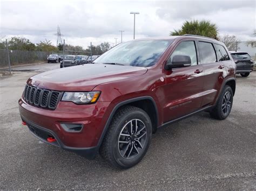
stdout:
[(200, 36), (218, 39), (218, 27), (210, 20), (186, 20), (181, 29), (170, 32), (170, 36), (180, 36), (183, 34), (196, 34)]

